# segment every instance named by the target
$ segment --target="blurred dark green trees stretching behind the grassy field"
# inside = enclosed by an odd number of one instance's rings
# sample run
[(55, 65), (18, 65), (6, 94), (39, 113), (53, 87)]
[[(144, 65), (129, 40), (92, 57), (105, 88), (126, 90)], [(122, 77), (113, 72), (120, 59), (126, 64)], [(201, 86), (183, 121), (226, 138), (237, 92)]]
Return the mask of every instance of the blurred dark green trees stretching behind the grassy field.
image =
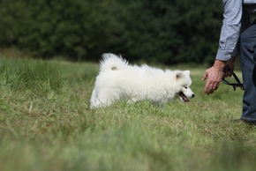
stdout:
[(0, 48), (36, 58), (98, 61), (111, 52), (149, 63), (212, 63), (219, 0), (1, 0)]

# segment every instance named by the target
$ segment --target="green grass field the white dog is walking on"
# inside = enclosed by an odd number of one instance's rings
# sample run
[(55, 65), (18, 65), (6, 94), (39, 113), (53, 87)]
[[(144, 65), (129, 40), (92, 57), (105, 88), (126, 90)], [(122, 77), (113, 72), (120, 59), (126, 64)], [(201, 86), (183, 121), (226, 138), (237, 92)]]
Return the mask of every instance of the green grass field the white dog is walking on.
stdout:
[(231, 122), (241, 114), (243, 92), (221, 85), (203, 94), (204, 67), (186, 67), (196, 93), (190, 103), (119, 101), (91, 110), (97, 64), (3, 57), (0, 63), (2, 171), (256, 167), (255, 129)]

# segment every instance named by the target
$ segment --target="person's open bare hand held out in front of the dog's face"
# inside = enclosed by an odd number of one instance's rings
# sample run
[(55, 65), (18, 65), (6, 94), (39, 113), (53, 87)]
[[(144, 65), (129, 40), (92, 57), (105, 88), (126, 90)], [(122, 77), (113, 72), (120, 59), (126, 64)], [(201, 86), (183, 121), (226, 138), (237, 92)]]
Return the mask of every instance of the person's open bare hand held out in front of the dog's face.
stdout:
[(211, 94), (218, 89), (223, 78), (223, 68), (225, 67), (225, 62), (220, 60), (215, 60), (215, 64), (205, 71), (202, 81), (207, 79), (207, 83), (204, 88), (204, 93)]

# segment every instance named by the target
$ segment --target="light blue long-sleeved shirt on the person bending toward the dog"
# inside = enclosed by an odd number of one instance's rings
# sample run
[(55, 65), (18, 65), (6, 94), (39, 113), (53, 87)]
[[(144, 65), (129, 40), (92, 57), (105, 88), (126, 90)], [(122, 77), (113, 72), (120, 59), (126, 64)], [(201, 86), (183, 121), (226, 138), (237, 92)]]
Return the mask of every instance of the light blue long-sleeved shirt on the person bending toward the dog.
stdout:
[(216, 59), (228, 61), (238, 56), (237, 40), (250, 25), (250, 13), (256, 12), (256, 0), (222, 0), (223, 20)]

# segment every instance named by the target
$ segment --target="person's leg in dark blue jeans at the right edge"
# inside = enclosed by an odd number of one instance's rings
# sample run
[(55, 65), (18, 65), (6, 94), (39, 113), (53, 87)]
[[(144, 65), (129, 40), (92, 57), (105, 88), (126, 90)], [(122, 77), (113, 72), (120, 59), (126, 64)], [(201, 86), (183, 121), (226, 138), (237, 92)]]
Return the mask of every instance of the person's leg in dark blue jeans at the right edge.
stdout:
[(241, 34), (240, 64), (245, 87), (241, 120), (256, 122), (256, 19)]

